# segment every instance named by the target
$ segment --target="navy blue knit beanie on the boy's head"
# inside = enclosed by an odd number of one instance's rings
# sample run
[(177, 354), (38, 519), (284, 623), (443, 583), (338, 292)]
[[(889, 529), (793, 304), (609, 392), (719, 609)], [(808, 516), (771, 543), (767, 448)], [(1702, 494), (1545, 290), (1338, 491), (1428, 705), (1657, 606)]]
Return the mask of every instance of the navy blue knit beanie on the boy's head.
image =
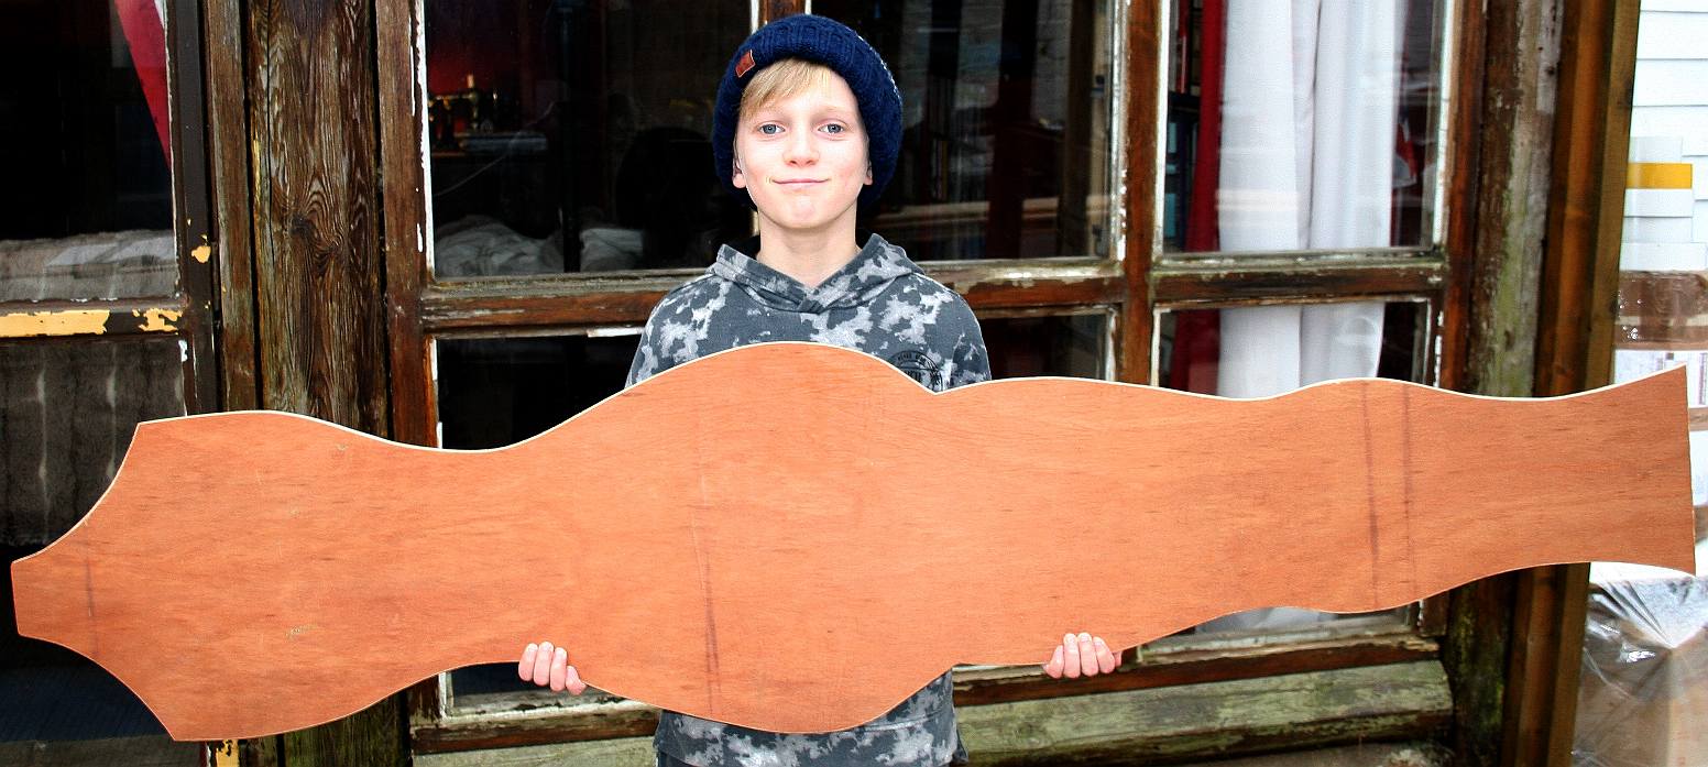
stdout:
[(902, 145), (902, 92), (871, 44), (852, 29), (822, 15), (799, 14), (765, 24), (729, 58), (724, 82), (717, 85), (717, 111), (712, 113), (712, 162), (717, 166), (717, 178), (729, 193), (753, 207), (746, 190), (729, 183), (741, 92), (758, 70), (784, 58), (830, 67), (854, 91), (861, 123), (866, 125), (866, 157), (871, 161), (871, 184), (861, 190), (859, 205), (873, 207), (895, 174), (895, 155)]

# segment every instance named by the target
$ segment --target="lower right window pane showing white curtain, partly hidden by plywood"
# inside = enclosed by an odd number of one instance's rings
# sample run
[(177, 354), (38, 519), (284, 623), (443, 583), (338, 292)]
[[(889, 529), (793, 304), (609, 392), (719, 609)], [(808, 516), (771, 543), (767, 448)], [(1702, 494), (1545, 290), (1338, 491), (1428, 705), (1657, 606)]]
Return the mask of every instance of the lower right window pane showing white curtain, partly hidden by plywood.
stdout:
[[(1156, 383), (1172, 389), (1257, 398), (1334, 378), (1424, 381), (1428, 304), (1358, 302), (1190, 309), (1158, 323)], [(1288, 605), (1211, 620), (1197, 634), (1308, 632), (1325, 620), (1392, 625), (1407, 608), (1334, 615)], [(1353, 624), (1356, 620), (1356, 624)]]

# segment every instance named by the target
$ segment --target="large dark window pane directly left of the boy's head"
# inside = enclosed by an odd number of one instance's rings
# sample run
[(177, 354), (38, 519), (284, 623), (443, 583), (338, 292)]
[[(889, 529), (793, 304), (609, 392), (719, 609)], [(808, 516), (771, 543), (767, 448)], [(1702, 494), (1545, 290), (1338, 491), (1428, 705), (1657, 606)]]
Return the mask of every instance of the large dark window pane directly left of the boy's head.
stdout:
[(427, 0), (441, 278), (704, 266), (752, 232), (709, 143), (745, 2)]

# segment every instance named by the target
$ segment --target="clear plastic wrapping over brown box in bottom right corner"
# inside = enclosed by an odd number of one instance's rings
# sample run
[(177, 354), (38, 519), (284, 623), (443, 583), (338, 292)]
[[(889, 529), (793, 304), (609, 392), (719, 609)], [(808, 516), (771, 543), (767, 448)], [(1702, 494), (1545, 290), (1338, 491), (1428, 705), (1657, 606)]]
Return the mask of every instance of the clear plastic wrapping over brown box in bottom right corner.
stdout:
[(1708, 765), (1708, 577), (1592, 586), (1571, 760)]

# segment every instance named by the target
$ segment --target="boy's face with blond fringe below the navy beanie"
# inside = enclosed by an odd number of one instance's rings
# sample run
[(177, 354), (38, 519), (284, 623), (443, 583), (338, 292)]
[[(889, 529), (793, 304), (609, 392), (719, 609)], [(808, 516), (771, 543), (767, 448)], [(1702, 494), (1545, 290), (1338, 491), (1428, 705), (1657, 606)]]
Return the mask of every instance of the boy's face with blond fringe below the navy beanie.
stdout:
[(861, 188), (871, 183), (866, 128), (840, 77), (741, 114), (731, 183), (746, 190), (762, 222), (816, 231), (852, 229)]

